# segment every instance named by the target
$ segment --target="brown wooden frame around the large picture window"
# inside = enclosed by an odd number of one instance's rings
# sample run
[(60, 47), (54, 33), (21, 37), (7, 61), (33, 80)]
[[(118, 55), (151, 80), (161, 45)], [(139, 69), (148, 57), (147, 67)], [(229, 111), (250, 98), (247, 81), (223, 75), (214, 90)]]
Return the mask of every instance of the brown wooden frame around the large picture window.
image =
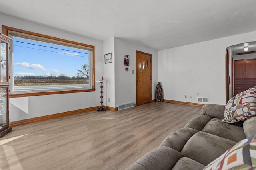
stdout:
[[(78, 93), (78, 92), (92, 92), (95, 91), (95, 47), (93, 45), (88, 45), (88, 44), (84, 44), (84, 43), (78, 43), (78, 42), (74, 42), (74, 41), (69, 41), (66, 39), (60, 39), (60, 38), (56, 38), (56, 37), (52, 37), (52, 36), (48, 36), (48, 35), (43, 35), (43, 34), (39, 34), (39, 33), (34, 33), (34, 32), (30, 32), (30, 31), (25, 31), (22, 29), (17, 29), (17, 28), (13, 28), (13, 27), (8, 27), (5, 25), (2, 25), (2, 32), (4, 35), (8, 36), (8, 32), (9, 31), (14, 31), (14, 32), (18, 32), (18, 33), (23, 33), (23, 34), (28, 34), (28, 35), (32, 35), (32, 36), (36, 36), (36, 37), (41, 37), (41, 38), (46, 38), (46, 39), (50, 39), (53, 41), (59, 41), (59, 42), (63, 42), (63, 43), (70, 43), (70, 44), (74, 44), (74, 45), (80, 45), (80, 46), (84, 46), (87, 48), (91, 48), (92, 51), (92, 58), (91, 58), (91, 74), (90, 76), (92, 76), (92, 82), (91, 82), (91, 88), (90, 89), (83, 89), (83, 90), (61, 90), (61, 91), (49, 91), (49, 92), (31, 92), (31, 93), (17, 93), (17, 94), (9, 94), (10, 98), (15, 98), (15, 97), (27, 97), (27, 96), (42, 96), (42, 95), (51, 95), (51, 94), (66, 94), (66, 93)], [(9, 63), (9, 65), (12, 63)], [(13, 78), (13, 76), (12, 76)]]

